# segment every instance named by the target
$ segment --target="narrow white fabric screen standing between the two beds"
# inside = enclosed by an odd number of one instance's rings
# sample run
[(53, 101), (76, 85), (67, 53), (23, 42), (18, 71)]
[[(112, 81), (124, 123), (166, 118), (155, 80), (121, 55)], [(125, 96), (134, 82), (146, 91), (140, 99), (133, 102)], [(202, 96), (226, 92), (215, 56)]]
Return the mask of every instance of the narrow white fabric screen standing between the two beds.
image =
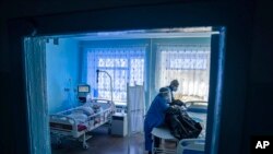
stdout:
[(128, 86), (128, 123), (129, 133), (143, 132), (144, 123), (144, 86)]

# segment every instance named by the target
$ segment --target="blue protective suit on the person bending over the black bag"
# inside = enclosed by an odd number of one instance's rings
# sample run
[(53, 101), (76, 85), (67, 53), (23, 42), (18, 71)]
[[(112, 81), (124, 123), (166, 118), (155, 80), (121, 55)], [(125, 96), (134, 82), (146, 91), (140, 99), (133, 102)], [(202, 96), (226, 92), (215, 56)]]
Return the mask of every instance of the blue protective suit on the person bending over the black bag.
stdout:
[(167, 99), (162, 95), (157, 95), (152, 102), (145, 120), (144, 120), (144, 132), (145, 132), (145, 150), (152, 151), (152, 130), (154, 127), (159, 127), (164, 123), (165, 112), (168, 108)]

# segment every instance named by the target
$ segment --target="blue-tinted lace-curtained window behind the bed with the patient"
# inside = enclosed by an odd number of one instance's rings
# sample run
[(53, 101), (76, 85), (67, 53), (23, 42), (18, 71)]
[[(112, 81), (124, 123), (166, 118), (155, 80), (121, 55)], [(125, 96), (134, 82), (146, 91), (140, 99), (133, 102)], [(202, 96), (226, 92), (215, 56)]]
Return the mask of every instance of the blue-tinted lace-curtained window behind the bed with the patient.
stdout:
[(96, 83), (96, 70), (106, 71), (112, 79), (112, 99), (127, 102), (127, 83), (143, 85), (145, 47), (111, 47), (86, 49), (86, 79), (93, 88), (93, 96), (110, 99), (110, 79), (99, 73)]

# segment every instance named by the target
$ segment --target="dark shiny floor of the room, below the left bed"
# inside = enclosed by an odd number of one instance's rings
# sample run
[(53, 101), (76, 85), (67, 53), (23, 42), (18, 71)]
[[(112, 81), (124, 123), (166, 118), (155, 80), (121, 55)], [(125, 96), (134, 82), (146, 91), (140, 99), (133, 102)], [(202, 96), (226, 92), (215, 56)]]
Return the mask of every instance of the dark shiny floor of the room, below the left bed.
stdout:
[[(93, 138), (87, 141), (87, 150), (78, 141), (62, 140), (60, 147), (51, 144), (52, 154), (129, 154), (128, 138), (112, 137), (105, 127), (92, 131), (91, 134)], [(145, 154), (144, 134), (134, 134), (130, 139), (130, 154)]]

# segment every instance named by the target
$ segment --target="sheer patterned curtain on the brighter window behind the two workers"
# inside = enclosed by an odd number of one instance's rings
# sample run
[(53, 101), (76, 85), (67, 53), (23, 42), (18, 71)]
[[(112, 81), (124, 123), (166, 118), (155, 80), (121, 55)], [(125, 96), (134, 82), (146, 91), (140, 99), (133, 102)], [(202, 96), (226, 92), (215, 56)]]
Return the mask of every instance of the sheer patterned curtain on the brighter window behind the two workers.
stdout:
[(156, 90), (177, 79), (176, 98), (207, 100), (210, 45), (158, 44), (156, 51)]

